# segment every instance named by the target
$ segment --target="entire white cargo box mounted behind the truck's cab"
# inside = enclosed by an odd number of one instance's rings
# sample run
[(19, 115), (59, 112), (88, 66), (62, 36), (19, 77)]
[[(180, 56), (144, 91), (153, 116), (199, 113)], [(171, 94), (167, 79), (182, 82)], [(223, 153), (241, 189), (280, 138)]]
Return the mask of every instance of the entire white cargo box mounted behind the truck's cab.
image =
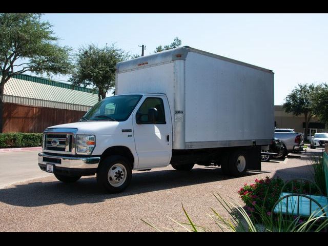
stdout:
[(187, 47), (117, 65), (116, 95), (156, 92), (169, 100), (173, 149), (270, 145), (274, 138), (271, 70)]

